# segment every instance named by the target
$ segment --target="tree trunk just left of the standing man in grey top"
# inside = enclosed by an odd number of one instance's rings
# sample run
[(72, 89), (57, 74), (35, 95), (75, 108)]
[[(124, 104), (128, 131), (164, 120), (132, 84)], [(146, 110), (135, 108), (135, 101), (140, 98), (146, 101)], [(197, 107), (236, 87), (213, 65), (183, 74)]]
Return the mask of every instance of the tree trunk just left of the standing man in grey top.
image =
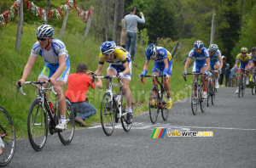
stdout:
[(114, 21), (113, 21), (113, 41), (119, 45), (122, 27), (120, 26), (124, 14), (124, 0), (115, 0)]

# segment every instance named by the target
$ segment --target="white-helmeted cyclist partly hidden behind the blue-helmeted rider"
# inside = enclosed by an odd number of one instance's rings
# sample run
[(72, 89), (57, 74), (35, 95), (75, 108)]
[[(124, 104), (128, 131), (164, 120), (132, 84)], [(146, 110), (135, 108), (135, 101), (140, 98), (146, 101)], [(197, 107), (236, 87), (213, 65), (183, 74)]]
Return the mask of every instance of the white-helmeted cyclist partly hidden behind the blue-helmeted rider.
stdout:
[(215, 76), (215, 88), (218, 88), (218, 73), (222, 73), (221, 68), (223, 66), (223, 61), (221, 57), (221, 53), (218, 50), (217, 44), (211, 44), (208, 48), (209, 56), (210, 56), (210, 66), (211, 70), (218, 70), (218, 72), (214, 72)]

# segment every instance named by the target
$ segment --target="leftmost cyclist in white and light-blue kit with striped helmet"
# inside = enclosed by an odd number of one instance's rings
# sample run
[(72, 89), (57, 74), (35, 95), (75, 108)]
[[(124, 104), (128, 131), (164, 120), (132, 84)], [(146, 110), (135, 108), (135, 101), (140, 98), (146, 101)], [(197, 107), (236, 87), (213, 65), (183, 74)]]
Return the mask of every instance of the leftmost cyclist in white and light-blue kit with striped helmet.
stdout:
[[(36, 31), (38, 42), (32, 46), (30, 57), (26, 63), (22, 78), (22, 85), (31, 73), (32, 66), (37, 60), (38, 54), (44, 59), (44, 69), (38, 76), (38, 81), (50, 81), (57, 92), (61, 120), (55, 127), (58, 130), (66, 129), (66, 100), (63, 88), (67, 82), (70, 71), (69, 55), (63, 42), (53, 38), (55, 30), (51, 25), (40, 25)], [(47, 86), (45, 86), (47, 87)]]

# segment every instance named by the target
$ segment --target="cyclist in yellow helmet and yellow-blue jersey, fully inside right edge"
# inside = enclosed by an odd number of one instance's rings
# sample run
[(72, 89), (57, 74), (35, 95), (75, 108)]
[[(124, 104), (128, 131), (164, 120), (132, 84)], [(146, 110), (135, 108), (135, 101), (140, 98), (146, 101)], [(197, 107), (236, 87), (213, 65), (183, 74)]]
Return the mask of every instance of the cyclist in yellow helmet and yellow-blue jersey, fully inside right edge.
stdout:
[(252, 67), (252, 58), (250, 57), (250, 55), (247, 53), (248, 49), (247, 48), (241, 48), (241, 53), (238, 53), (238, 55), (236, 56), (236, 64), (235, 67), (237, 68), (238, 63), (240, 62), (240, 70), (238, 70), (238, 78), (237, 78), (237, 88), (236, 88), (236, 93), (238, 94), (239, 92), (239, 80), (240, 80), (240, 76), (241, 76), (241, 69), (247, 69), (246, 71), (246, 76), (247, 76), (247, 81), (246, 84), (249, 84), (249, 80), (248, 80), (248, 74), (249, 71), (251, 70)]

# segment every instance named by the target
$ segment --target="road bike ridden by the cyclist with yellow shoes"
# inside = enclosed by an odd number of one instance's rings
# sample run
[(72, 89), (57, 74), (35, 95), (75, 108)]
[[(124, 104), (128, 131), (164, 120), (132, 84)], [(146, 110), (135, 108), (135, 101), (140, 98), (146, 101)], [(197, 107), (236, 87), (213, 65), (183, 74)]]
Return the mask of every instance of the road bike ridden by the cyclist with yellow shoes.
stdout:
[[(144, 76), (144, 77), (153, 77), (153, 87), (151, 88), (151, 91), (149, 93), (149, 101), (148, 101), (149, 116), (150, 116), (151, 122), (153, 124), (156, 122), (158, 114), (160, 113), (160, 110), (161, 110), (163, 120), (167, 120), (171, 109), (166, 109), (167, 93), (166, 93), (164, 80), (163, 80), (164, 78), (166, 79), (166, 76), (153, 75), (153, 76)], [(143, 84), (145, 84), (144, 77), (141, 78), (141, 81), (143, 82)], [(158, 81), (158, 78), (161, 78), (161, 81)], [(160, 88), (158, 88), (158, 84), (160, 85)]]

